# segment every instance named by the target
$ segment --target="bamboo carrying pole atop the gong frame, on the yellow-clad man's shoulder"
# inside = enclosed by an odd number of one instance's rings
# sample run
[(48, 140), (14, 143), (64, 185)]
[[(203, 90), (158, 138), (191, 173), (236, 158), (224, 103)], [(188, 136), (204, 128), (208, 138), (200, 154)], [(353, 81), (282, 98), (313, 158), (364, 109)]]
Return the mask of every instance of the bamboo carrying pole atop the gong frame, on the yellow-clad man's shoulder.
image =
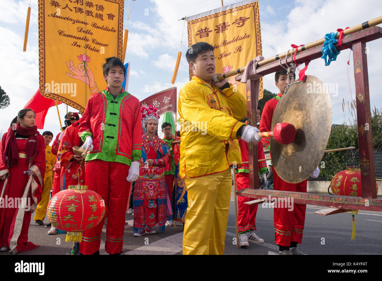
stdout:
[[(363, 30), (363, 29), (365, 29), (367, 27), (370, 27), (370, 26), (375, 26), (375, 25), (380, 24), (380, 23), (382, 23), (382, 16), (379, 16), (378, 18), (371, 19), (369, 21), (365, 21), (364, 23), (361, 23), (361, 24), (358, 24), (356, 26), (353, 26), (353, 27), (350, 27), (348, 29), (345, 29), (343, 31), (343, 36), (351, 34), (351, 33), (354, 33), (354, 32), (357, 32), (357, 31), (360, 31), (360, 30)], [(339, 36), (340, 35), (339, 35), (339, 32), (338, 32), (338, 34), (336, 35), (335, 38), (338, 38)], [(297, 53), (299, 53), (299, 52), (301, 52), (303, 50), (307, 50), (309, 48), (316, 47), (318, 45), (324, 44), (324, 42), (325, 42), (325, 39), (321, 38), (319, 40), (316, 40), (316, 41), (313, 41), (311, 43), (305, 44), (305, 45), (297, 48)], [(285, 58), (286, 56), (291, 55), (292, 53), (294, 53), (295, 50), (296, 49), (293, 48), (292, 50), (288, 50), (288, 52), (284, 52), (284, 53), (278, 54), (278, 55), (276, 55), (274, 57), (267, 58), (266, 60), (259, 61), (257, 66), (263, 66), (263, 65), (266, 65), (267, 63), (271, 63), (272, 61), (276, 61), (276, 60), (278, 60), (280, 58)], [(244, 70), (245, 70), (245, 66), (242, 67), (242, 68), (239, 68), (239, 69), (236, 69), (236, 70), (224, 73), (222, 75), (219, 75), (219, 76), (217, 76), (217, 79), (219, 81), (221, 81), (224, 78), (227, 78), (227, 77), (230, 77), (230, 76), (234, 76), (234, 75), (239, 74), (239, 73), (243, 73)]]

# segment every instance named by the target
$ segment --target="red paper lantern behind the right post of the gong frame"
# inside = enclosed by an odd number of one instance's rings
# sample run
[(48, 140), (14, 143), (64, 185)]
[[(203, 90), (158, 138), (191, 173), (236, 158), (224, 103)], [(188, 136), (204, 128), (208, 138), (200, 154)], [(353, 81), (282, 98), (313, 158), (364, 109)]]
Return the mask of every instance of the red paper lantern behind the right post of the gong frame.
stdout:
[(347, 167), (346, 170), (335, 174), (330, 187), (335, 195), (362, 197), (361, 170)]

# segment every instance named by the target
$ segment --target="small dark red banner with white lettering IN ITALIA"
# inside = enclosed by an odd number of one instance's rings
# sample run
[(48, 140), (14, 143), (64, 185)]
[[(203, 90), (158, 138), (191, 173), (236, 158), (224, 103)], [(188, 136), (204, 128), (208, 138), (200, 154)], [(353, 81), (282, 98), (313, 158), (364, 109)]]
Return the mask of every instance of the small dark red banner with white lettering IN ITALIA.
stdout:
[(157, 92), (141, 101), (141, 107), (152, 105), (158, 109), (158, 115), (171, 112), (176, 115), (176, 87)]

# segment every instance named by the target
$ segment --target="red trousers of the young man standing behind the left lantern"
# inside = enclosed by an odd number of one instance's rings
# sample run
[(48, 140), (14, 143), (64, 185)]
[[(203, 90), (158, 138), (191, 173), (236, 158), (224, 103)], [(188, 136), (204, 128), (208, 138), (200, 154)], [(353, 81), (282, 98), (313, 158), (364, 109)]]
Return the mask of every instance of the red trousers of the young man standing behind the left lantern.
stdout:
[(130, 166), (99, 159), (86, 162), (87, 189), (97, 192), (105, 201), (106, 212), (102, 221), (83, 232), (80, 252), (92, 255), (99, 250), (101, 233), (107, 216), (105, 250), (118, 254), (123, 248), (125, 216), (129, 199), (130, 182), (126, 181)]

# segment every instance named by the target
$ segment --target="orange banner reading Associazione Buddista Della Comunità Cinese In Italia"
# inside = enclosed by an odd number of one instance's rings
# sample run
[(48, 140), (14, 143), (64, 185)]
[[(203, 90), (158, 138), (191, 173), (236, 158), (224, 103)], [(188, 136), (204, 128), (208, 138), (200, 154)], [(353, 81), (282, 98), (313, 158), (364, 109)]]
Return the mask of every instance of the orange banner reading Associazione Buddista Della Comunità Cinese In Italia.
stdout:
[(105, 58), (122, 58), (124, 0), (39, 0), (39, 87), (80, 111), (104, 90)]

